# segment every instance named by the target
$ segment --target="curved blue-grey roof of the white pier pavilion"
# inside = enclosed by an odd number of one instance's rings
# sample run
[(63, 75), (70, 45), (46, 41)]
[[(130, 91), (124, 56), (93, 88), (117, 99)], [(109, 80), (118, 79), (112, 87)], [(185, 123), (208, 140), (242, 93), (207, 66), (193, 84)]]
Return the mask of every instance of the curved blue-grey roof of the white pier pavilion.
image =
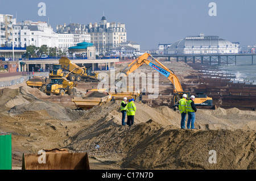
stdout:
[(218, 36), (204, 36), (201, 33), (199, 36), (188, 36), (184, 39), (176, 41), (170, 48), (184, 48), (184, 47), (226, 47), (232, 46), (228, 40), (220, 39)]

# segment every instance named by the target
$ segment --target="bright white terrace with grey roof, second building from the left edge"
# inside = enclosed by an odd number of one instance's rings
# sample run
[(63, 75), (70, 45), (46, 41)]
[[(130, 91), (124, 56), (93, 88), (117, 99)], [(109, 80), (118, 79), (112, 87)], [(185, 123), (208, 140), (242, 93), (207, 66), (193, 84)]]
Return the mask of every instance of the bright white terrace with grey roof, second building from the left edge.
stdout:
[(31, 22), (29, 20), (24, 23), (14, 25), (14, 42), (15, 45), (24, 47), (34, 45), (41, 47), (58, 47), (58, 35), (53, 32), (52, 27), (46, 22)]

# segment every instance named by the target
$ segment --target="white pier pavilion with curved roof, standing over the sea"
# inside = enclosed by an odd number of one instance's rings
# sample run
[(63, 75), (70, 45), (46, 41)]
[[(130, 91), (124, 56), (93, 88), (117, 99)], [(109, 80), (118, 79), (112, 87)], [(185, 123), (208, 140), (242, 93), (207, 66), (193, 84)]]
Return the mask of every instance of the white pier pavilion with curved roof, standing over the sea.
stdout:
[(176, 41), (167, 50), (168, 54), (213, 54), (240, 53), (240, 44), (231, 43), (218, 36), (188, 36)]

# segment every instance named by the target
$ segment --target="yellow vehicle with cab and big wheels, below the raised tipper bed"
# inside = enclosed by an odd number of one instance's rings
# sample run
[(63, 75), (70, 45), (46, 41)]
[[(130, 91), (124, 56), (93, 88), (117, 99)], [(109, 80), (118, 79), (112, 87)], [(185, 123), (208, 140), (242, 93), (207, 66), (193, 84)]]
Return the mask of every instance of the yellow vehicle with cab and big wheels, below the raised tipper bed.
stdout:
[(77, 83), (68, 81), (67, 78), (51, 78), (51, 83), (46, 86), (47, 95), (77, 95)]

